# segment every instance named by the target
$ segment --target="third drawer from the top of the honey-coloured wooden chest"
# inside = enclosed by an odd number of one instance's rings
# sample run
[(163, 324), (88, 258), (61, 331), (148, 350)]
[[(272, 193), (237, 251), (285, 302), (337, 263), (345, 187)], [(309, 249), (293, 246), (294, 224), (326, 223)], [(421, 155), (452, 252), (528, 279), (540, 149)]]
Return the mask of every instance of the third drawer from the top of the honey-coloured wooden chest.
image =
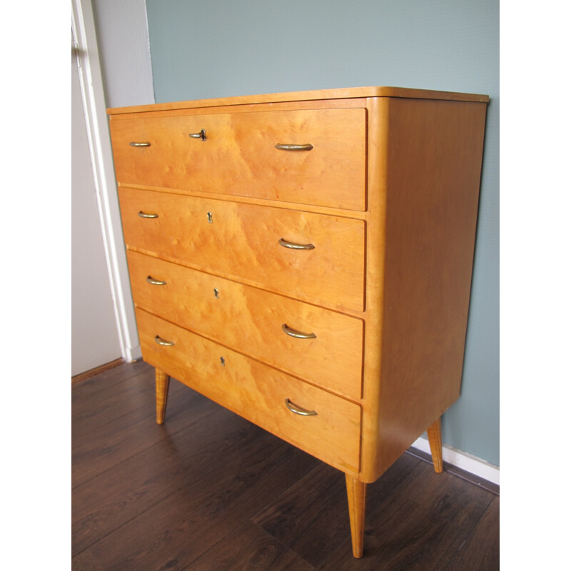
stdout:
[[(128, 251), (127, 259), (138, 307), (286, 373), (360, 398), (362, 320), (141, 253)], [(315, 337), (292, 336), (296, 331)]]

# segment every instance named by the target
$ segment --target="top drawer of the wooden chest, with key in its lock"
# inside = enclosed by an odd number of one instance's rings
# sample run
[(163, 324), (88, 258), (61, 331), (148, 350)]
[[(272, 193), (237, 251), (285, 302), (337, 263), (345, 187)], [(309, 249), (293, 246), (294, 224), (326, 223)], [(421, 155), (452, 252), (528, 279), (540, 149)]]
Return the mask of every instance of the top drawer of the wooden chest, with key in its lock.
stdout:
[[(365, 109), (142, 113), (113, 118), (110, 126), (122, 185), (365, 210)], [(205, 141), (189, 136), (201, 131)], [(313, 148), (283, 150), (276, 144)]]

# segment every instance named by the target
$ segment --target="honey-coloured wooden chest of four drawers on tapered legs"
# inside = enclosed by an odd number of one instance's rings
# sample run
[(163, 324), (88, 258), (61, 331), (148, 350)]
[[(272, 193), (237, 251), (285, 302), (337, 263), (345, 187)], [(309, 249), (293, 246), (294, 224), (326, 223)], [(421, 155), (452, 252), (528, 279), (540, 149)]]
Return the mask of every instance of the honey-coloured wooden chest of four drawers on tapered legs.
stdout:
[(388, 87), (116, 108), (157, 422), (172, 376), (366, 484), (458, 398), (487, 96)]

